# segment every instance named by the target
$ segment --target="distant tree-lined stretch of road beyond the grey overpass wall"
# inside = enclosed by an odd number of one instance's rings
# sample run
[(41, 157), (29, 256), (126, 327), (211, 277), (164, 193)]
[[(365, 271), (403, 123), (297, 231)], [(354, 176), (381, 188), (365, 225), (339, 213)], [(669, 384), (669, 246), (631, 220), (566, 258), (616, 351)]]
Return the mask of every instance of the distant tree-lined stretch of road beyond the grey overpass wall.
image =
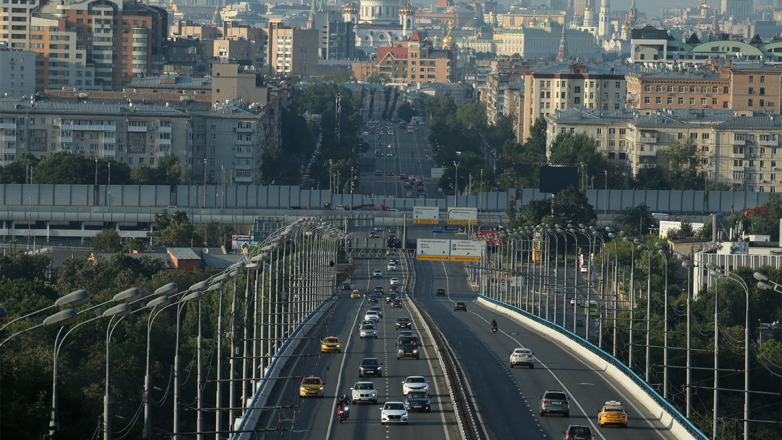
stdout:
[[(407, 125), (403, 127), (398, 123), (385, 122), (380, 126), (373, 125), (372, 131), (367, 129), (369, 136), (365, 137), (365, 140), (369, 142), (369, 151), (362, 153), (359, 158), (361, 179), (358, 193), (373, 197), (419, 197), (416, 186), (412, 188), (403, 186), (404, 182), (399, 176), (406, 174), (421, 176), (424, 181), (424, 197), (443, 197), (442, 193), (437, 191), (437, 183), (429, 179), (434, 162), (431, 160), (426, 127), (423, 124), (415, 127), (418, 131), (413, 130), (409, 134), (405, 134)], [(382, 152), (383, 156), (376, 156), (376, 150)], [(388, 153), (393, 153), (393, 156), (389, 157)], [(426, 158), (427, 154), (430, 159)], [(380, 171), (382, 175), (376, 176), (375, 171)]]

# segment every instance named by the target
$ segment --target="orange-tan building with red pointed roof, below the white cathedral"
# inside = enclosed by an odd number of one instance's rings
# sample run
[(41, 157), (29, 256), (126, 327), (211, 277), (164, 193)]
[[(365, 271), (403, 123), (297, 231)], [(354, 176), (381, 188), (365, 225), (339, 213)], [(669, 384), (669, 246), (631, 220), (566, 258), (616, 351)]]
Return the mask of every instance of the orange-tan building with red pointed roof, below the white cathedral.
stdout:
[[(363, 64), (353, 63), (354, 74), (373, 70), (363, 68)], [(374, 66), (376, 72), (392, 82), (456, 82), (456, 51), (435, 49), (429, 39), (418, 31), (414, 31), (408, 40), (397, 40), (393, 46), (379, 47)]]

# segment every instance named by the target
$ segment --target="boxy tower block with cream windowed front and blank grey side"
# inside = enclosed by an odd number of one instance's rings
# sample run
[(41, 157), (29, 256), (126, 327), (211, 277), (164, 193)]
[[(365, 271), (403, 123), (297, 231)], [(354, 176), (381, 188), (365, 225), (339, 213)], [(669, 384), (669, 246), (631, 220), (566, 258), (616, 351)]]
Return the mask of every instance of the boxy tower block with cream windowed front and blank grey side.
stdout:
[(269, 23), (269, 66), (278, 75), (302, 79), (318, 73), (318, 30)]

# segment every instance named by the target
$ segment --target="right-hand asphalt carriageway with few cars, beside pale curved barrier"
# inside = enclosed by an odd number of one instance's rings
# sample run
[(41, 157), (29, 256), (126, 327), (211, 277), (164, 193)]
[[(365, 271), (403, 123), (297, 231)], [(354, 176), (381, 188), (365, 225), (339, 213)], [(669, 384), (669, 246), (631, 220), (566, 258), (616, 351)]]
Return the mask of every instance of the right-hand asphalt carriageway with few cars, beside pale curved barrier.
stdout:
[[(560, 438), (570, 424), (588, 425), (596, 439), (673, 439), (627, 390), (613, 385), (600, 371), (566, 353), (545, 337), (478, 306), (466, 273), (452, 262), (417, 261), (416, 298), (437, 322), (467, 372), (469, 394), (479, 408), (479, 423), (489, 438)], [(446, 297), (436, 297), (437, 288)], [(467, 302), (467, 313), (454, 312), (455, 301)], [(497, 319), (500, 332), (489, 331)], [(532, 349), (535, 369), (510, 368), (516, 347)], [(564, 390), (570, 417), (538, 415), (539, 396), (547, 389)], [(598, 428), (597, 413), (607, 400), (618, 400), (628, 413), (629, 427)], [(512, 420), (512, 423), (509, 421)]]

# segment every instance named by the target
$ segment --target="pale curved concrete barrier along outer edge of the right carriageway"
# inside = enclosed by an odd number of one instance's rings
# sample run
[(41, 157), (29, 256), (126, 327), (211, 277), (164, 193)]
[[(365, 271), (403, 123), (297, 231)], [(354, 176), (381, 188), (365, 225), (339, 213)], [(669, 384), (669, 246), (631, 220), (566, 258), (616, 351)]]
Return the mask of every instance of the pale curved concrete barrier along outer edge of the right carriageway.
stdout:
[(574, 335), (560, 325), (484, 295), (478, 295), (478, 304), (508, 316), (530, 330), (561, 344), (571, 353), (594, 365), (595, 369), (607, 374), (614, 383), (630, 391), (676, 438), (708, 440), (705, 434), (640, 376), (584, 338)]

